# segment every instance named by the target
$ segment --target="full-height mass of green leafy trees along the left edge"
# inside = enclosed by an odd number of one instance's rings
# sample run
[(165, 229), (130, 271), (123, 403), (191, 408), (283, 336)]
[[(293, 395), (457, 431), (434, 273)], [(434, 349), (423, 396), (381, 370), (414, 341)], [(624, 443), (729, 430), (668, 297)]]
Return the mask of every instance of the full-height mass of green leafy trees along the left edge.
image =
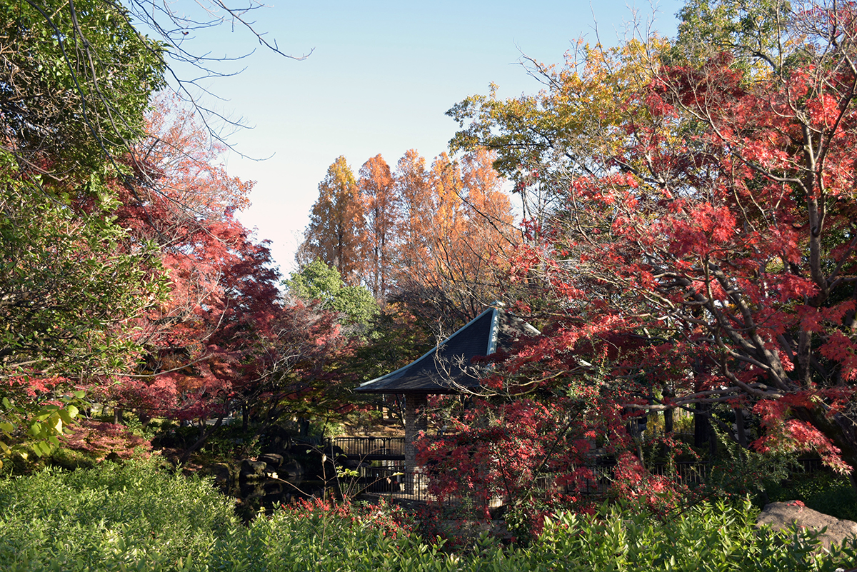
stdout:
[(61, 397), (134, 358), (129, 325), (161, 283), (151, 248), (114, 223), (111, 184), (139, 175), (123, 158), (164, 69), (117, 3), (0, 5), (5, 455), (50, 450), (74, 412)]

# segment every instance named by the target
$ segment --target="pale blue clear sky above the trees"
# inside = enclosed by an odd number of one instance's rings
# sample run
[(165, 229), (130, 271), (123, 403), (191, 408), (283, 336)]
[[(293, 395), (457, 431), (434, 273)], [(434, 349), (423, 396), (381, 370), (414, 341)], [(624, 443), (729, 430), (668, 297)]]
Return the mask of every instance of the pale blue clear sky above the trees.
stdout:
[[(271, 241), (287, 275), (295, 270), (318, 184), (340, 155), (356, 174), (379, 153), (392, 169), (409, 149), (430, 164), (458, 128), (445, 115), (453, 104), (487, 93), (492, 82), (503, 98), (539, 91), (519, 65), (522, 54), (561, 63), (581, 38), (617, 45), (635, 14), (643, 27), (671, 37), (681, 4), (275, 2), (248, 18), (280, 51), (309, 53), (303, 61), (259, 46), (241, 26), (189, 33), (187, 41), (190, 51), (212, 57), (255, 48), (221, 64), (219, 71), (234, 75), (201, 85), (217, 96), (207, 96), (207, 105), (252, 127), (228, 137), (234, 151), (225, 165), (232, 176), (255, 181), (252, 206), (238, 217), (257, 239)], [(194, 70), (179, 67), (177, 74), (187, 79)]]

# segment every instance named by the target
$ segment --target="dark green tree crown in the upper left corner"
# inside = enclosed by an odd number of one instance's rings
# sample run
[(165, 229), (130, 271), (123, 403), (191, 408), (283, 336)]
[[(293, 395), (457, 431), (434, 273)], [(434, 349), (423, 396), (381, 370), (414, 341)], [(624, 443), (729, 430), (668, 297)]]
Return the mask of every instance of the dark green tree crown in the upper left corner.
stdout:
[(137, 32), (121, 4), (3, 3), (3, 149), (27, 170), (87, 176), (142, 134), (164, 70), (161, 46)]

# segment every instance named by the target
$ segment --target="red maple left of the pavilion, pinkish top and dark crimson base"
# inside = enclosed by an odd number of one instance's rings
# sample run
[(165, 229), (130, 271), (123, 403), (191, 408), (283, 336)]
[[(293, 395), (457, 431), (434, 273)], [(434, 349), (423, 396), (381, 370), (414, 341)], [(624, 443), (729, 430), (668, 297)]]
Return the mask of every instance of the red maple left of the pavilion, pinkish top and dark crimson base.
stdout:
[(285, 304), (267, 241), (233, 217), (252, 185), (226, 173), (223, 148), (192, 116), (159, 102), (149, 131), (130, 160), (137, 184), (118, 189), (117, 223), (129, 250), (157, 245), (150, 271), (168, 292), (137, 322), (136, 365), (93, 390), (144, 419), (248, 409), (275, 419), (324, 384), (324, 359), (341, 345), (335, 316)]

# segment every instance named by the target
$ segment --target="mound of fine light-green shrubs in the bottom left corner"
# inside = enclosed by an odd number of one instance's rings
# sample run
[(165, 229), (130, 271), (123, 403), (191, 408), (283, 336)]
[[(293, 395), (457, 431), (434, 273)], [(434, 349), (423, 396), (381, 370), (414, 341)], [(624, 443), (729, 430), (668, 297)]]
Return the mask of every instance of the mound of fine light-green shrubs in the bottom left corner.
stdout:
[(0, 569), (173, 569), (237, 529), (199, 479), (128, 462), (0, 480)]

